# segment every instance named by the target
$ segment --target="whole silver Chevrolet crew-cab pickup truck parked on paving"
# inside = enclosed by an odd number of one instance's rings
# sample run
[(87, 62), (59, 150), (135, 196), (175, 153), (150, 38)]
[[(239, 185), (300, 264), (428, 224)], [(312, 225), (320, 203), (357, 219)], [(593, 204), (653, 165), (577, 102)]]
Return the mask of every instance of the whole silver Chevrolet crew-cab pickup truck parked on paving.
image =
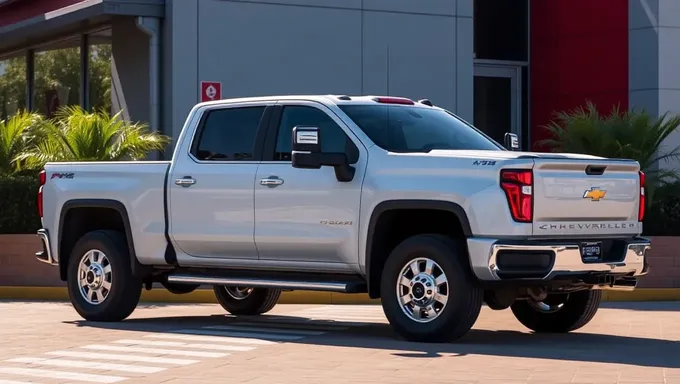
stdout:
[(647, 273), (644, 174), (505, 139), (426, 99), (201, 103), (171, 161), (48, 163), (36, 256), (90, 321), (125, 319), (156, 283), (212, 286), (234, 315), (282, 291), (368, 294), (413, 341), (462, 337), (483, 303), (576, 330)]

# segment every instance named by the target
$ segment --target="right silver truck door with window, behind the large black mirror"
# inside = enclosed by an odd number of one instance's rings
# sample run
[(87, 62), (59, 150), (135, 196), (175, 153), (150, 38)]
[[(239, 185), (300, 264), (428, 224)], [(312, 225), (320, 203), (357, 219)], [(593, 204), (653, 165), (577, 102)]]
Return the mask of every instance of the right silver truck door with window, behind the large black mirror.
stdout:
[[(260, 260), (310, 267), (324, 263), (325, 269), (347, 270), (358, 262), (359, 204), (367, 158), (359, 150), (365, 149), (346, 127), (341, 128), (342, 120), (321, 104), (280, 101), (275, 111), (255, 178), (255, 243)], [(293, 168), (292, 129), (298, 125), (319, 127), (324, 150), (351, 148), (350, 157), (357, 159), (354, 179), (339, 182), (332, 167)]]

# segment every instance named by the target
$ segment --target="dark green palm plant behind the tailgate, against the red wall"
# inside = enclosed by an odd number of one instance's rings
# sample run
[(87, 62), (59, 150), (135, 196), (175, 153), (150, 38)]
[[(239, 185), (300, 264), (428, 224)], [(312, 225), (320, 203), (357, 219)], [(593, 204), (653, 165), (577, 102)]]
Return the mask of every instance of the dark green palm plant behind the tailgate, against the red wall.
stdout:
[(552, 138), (538, 144), (555, 152), (636, 160), (647, 176), (651, 195), (656, 187), (680, 179), (676, 171), (658, 167), (658, 163), (680, 159), (680, 146), (666, 148), (662, 144), (678, 126), (680, 116), (664, 114), (657, 118), (645, 111), (621, 112), (618, 107), (601, 115), (593, 103), (587, 102), (585, 108), (557, 113), (556, 119), (545, 126)]

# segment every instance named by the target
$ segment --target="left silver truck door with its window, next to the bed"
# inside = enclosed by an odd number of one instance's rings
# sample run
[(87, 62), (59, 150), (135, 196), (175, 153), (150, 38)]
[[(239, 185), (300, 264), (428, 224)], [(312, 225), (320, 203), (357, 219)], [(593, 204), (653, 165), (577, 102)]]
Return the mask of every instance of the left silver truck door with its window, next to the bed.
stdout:
[(184, 253), (257, 259), (253, 187), (265, 108), (236, 104), (207, 110), (191, 145), (175, 155), (169, 175), (170, 233)]

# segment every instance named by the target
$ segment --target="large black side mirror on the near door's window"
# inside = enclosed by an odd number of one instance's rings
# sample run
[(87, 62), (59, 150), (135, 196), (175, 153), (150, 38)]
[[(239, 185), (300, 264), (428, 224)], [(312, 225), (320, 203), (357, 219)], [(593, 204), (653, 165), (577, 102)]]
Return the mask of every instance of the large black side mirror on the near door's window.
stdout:
[(319, 169), (324, 165), (335, 168), (338, 181), (352, 181), (356, 169), (349, 165), (347, 154), (343, 152), (323, 153), (321, 151), (321, 131), (318, 127), (293, 127), (293, 168)]

